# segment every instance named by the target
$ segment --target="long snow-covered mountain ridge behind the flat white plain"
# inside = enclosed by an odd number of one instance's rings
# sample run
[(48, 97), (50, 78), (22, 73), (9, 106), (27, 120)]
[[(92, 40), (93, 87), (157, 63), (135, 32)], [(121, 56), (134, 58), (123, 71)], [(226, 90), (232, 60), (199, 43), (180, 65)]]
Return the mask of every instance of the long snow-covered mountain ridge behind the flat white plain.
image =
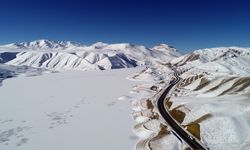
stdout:
[(0, 46), (0, 61), (9, 65), (51, 70), (106, 70), (169, 62), (180, 56), (171, 46), (153, 48), (129, 43), (102, 42), (84, 46), (75, 42), (38, 40)]

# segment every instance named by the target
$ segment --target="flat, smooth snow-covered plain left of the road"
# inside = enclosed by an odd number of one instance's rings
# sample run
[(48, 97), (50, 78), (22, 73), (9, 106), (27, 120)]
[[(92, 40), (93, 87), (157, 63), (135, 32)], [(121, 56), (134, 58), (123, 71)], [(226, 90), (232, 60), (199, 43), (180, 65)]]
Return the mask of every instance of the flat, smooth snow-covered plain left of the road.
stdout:
[[(127, 80), (142, 68), (67, 71), (4, 80), (1, 150), (133, 149)], [(129, 96), (127, 96), (129, 97)]]

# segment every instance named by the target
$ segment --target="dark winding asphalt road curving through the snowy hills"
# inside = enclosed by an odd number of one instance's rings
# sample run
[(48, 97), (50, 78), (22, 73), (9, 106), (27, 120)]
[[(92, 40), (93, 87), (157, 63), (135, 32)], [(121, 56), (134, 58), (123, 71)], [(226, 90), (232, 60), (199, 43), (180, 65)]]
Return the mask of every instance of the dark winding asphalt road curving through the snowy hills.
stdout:
[(190, 146), (190, 148), (194, 150), (206, 150), (205, 148), (198, 140), (196, 140), (195, 137), (193, 137), (191, 134), (187, 133), (170, 115), (169, 111), (165, 109), (164, 107), (164, 100), (168, 94), (168, 92), (180, 81), (179, 72), (175, 69), (174, 70), (174, 76), (175, 79), (170, 81), (169, 86), (165, 89), (165, 91), (160, 95), (157, 101), (158, 110), (164, 118), (164, 120), (168, 123), (168, 125), (172, 129), (172, 133), (177, 136), (178, 139), (181, 141), (185, 141), (186, 144)]

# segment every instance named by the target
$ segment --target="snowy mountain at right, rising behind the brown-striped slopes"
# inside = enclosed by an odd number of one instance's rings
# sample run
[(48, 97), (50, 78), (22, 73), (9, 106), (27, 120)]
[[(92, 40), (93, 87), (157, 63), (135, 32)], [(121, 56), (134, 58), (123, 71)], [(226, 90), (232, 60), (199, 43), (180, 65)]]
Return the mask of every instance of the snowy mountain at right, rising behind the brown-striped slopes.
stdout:
[(221, 74), (250, 74), (250, 48), (218, 47), (196, 50), (171, 61), (172, 64)]

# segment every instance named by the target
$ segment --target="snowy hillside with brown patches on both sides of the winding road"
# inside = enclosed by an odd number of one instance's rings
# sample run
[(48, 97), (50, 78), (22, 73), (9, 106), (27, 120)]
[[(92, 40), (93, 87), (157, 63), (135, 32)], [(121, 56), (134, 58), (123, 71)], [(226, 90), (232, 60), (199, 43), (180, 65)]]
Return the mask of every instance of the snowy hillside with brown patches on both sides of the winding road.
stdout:
[(186, 149), (159, 117), (156, 105), (175, 67), (181, 80), (165, 100), (172, 117), (209, 149), (249, 149), (249, 134), (244, 134), (250, 131), (249, 64), (250, 48), (209, 48), (132, 76), (149, 82), (133, 88), (133, 93), (147, 92), (132, 105), (134, 130), (141, 138), (137, 149)]

